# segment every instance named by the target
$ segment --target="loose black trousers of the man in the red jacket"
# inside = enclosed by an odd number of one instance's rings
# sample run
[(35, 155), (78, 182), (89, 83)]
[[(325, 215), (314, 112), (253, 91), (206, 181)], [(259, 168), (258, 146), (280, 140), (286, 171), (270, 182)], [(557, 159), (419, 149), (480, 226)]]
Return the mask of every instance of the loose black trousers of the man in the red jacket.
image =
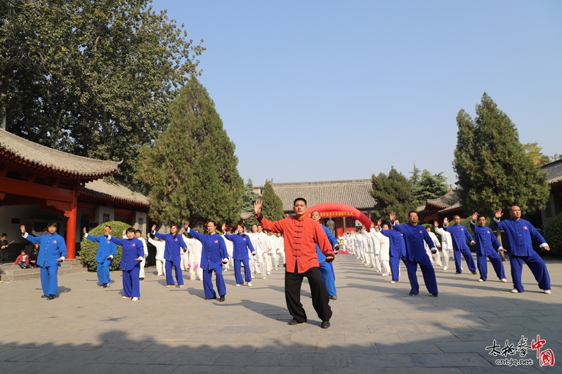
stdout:
[(329, 320), (332, 318), (332, 308), (328, 305), (328, 291), (322, 282), (320, 267), (312, 267), (304, 273), (285, 272), (285, 301), (289, 314), (299, 323), (306, 322), (306, 312), (301, 304), (301, 286), (305, 276), (311, 285), (312, 305), (318, 318)]

